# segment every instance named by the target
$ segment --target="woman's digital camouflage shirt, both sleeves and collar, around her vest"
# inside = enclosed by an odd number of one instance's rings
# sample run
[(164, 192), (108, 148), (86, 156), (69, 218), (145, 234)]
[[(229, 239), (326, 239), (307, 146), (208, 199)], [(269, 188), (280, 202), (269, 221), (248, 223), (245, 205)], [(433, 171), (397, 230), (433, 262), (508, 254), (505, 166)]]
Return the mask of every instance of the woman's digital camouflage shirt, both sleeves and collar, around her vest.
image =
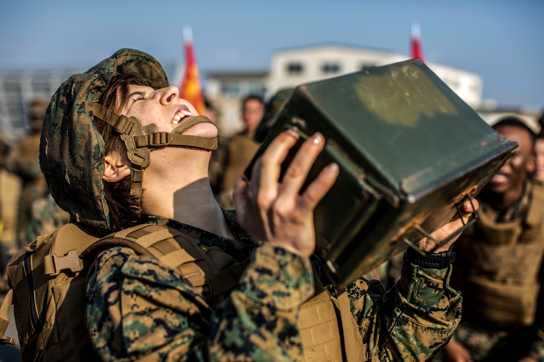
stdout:
[[(255, 245), (230, 214), (238, 240), (174, 220), (148, 217), (219, 247), (237, 261), (252, 257), (230, 297), (209, 305), (170, 267), (131, 249), (108, 249), (88, 280), (86, 325), (104, 360), (302, 360), (298, 307), (314, 292), (309, 260), (267, 243)], [(453, 334), (461, 298), (450, 270), (405, 266), (384, 294), (377, 280), (348, 286), (368, 360), (426, 361)], [(328, 285), (332, 297), (336, 291)]]

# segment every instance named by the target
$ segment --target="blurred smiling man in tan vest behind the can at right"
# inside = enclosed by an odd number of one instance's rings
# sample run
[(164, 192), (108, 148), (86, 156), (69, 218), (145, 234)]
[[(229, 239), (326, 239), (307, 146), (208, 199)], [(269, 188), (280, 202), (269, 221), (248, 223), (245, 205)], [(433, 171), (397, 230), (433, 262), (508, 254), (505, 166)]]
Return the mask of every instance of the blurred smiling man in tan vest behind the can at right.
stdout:
[(544, 361), (544, 186), (531, 176), (538, 127), (510, 116), (493, 128), (519, 147), (481, 194), (479, 218), (455, 244), (451, 284), (463, 317), (446, 361)]

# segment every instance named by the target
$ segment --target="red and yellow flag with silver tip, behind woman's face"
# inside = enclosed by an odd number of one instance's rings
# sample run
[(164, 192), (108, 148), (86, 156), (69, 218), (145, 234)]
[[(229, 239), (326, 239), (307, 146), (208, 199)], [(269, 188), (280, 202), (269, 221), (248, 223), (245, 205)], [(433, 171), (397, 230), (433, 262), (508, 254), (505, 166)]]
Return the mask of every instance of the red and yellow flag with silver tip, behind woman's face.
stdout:
[(180, 85), (180, 97), (189, 101), (199, 114), (206, 111), (199, 67), (196, 65), (193, 47), (193, 32), (190, 26), (183, 27), (183, 44), (185, 47), (185, 73)]

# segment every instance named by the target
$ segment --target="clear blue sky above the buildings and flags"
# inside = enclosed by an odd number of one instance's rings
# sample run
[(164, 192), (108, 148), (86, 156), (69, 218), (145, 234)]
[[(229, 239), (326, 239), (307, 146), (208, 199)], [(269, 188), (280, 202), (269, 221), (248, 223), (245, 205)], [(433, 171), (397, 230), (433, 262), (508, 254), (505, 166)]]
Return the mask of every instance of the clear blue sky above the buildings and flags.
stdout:
[(0, 66), (88, 68), (130, 47), (183, 59), (193, 28), (202, 72), (267, 70), (275, 49), (343, 42), (410, 52), (478, 73), (484, 99), (544, 109), (544, 0), (15, 1), (0, 3)]

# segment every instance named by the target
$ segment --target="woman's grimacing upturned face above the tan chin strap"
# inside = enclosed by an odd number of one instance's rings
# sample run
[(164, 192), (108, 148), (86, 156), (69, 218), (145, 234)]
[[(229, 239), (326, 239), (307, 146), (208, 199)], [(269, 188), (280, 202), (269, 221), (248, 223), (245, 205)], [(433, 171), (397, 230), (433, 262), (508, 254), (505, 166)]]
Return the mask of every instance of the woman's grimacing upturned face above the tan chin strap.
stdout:
[[(154, 90), (143, 85), (128, 86), (128, 97), (118, 113), (137, 118), (143, 127), (154, 123), (159, 132), (172, 132), (178, 124), (198, 115), (192, 104), (180, 98), (176, 86)], [(214, 138), (218, 131), (213, 123), (197, 123), (183, 134)]]

